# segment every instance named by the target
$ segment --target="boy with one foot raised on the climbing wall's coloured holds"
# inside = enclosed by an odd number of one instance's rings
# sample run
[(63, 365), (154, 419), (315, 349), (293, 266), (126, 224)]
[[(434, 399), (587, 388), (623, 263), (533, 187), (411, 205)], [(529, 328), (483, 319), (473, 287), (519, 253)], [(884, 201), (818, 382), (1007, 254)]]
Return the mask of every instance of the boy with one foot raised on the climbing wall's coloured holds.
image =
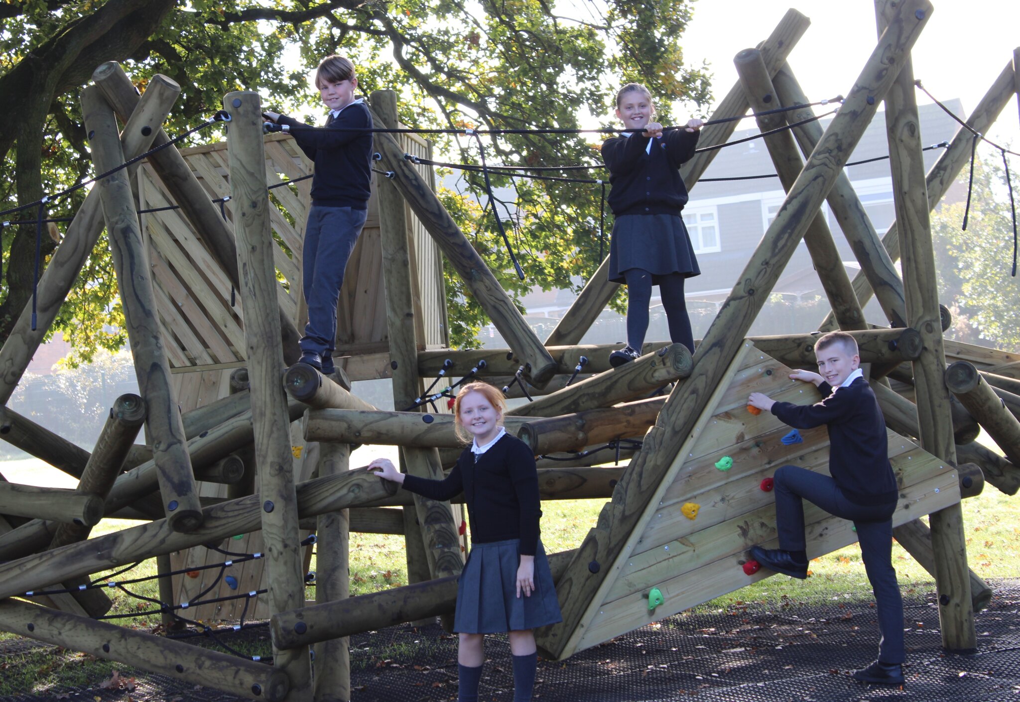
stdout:
[(860, 369), (857, 341), (832, 332), (815, 343), (818, 370), (795, 370), (793, 380), (814, 383), (825, 399), (813, 405), (775, 402), (751, 393), (748, 404), (771, 411), (796, 429), (826, 424), (831, 478), (796, 465), (775, 471), (775, 515), (778, 549), (751, 548), (764, 567), (792, 578), (808, 576), (804, 538), (804, 499), (826, 512), (851, 519), (861, 544), (861, 557), (878, 610), (878, 659), (855, 670), (854, 680), (902, 686), (903, 601), (892, 568), (892, 512), (898, 489), (888, 459), (885, 419), (871, 386)]

